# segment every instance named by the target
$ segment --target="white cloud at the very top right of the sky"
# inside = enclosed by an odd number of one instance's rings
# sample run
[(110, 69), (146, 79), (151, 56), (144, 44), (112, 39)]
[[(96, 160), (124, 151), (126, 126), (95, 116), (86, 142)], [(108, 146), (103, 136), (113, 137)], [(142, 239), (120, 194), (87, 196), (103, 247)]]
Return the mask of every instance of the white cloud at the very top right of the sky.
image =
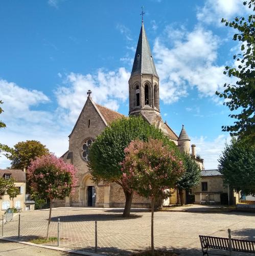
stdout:
[(206, 0), (204, 6), (197, 9), (197, 19), (220, 26), (222, 18), (231, 20), (235, 16), (244, 15), (247, 10), (241, 0)]

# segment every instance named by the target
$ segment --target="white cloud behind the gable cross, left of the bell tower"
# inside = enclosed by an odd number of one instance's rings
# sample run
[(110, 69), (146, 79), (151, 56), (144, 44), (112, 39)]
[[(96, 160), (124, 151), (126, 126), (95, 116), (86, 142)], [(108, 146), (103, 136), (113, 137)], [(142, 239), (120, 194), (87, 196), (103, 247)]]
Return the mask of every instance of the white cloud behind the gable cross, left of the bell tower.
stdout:
[(118, 110), (119, 101), (128, 98), (129, 77), (130, 73), (125, 68), (109, 72), (99, 70), (95, 75), (70, 73), (66, 77), (67, 86), (55, 92), (60, 113), (68, 121), (75, 122), (86, 101), (88, 90), (92, 91), (91, 96), (95, 102)]

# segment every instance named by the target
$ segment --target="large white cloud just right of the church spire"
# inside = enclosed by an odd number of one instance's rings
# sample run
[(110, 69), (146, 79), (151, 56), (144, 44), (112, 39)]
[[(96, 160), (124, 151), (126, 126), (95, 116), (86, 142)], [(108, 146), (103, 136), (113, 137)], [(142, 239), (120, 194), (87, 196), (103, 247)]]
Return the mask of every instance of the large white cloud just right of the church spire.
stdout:
[[(153, 52), (161, 81), (160, 98), (172, 103), (186, 97), (194, 87), (200, 96), (214, 96), (229, 80), (223, 74), (224, 66), (215, 63), (219, 38), (200, 26), (191, 32), (177, 30), (167, 27), (166, 34), (155, 40)], [(175, 32), (178, 36), (173, 37)]]

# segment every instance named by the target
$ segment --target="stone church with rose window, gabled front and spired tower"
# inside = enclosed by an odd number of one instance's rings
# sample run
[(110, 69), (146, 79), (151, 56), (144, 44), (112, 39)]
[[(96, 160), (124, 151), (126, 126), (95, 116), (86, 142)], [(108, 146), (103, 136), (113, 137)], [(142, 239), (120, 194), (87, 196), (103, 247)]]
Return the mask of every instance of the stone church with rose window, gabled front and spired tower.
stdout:
[[(190, 145), (187, 132), (182, 129), (177, 136), (171, 127), (164, 122), (159, 110), (159, 77), (151, 54), (144, 24), (138, 38), (133, 67), (127, 86), (129, 87), (129, 115), (142, 115), (149, 123), (161, 129), (179, 147), (182, 152), (190, 152), (203, 169), (203, 160), (196, 158), (195, 145)], [(96, 137), (115, 119), (123, 115), (97, 104), (91, 97), (91, 91), (78, 120), (69, 135), (68, 151), (62, 156), (65, 162), (72, 163), (78, 169), (78, 184), (75, 194), (65, 200), (55, 201), (55, 206), (95, 206), (124, 207), (125, 195), (116, 183), (95, 184), (91, 180), (87, 161), (89, 146)], [(176, 203), (177, 193), (173, 193), (165, 204)], [(189, 193), (187, 192), (186, 201)], [(133, 196), (132, 207), (150, 207), (150, 201), (138, 195)]]

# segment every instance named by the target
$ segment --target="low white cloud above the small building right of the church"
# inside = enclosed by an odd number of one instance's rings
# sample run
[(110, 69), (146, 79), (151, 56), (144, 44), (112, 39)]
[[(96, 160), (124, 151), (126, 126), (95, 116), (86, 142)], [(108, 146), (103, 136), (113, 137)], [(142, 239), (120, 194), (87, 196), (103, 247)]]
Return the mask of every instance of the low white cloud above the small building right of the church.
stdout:
[(230, 142), (230, 137), (227, 135), (219, 135), (215, 139), (206, 137), (192, 138), (192, 143), (196, 145), (196, 153), (204, 159), (205, 169), (217, 169), (218, 159), (224, 150), (225, 143)]

